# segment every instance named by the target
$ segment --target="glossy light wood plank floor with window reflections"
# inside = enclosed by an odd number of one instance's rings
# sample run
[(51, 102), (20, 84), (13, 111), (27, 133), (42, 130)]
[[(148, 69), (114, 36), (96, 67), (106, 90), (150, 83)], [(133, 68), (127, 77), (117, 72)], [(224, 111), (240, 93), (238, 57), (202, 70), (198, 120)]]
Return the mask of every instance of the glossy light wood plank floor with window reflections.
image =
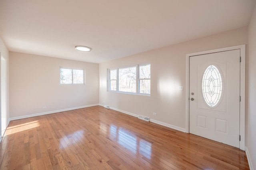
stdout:
[(11, 121), (0, 169), (249, 169), (244, 151), (101, 106)]

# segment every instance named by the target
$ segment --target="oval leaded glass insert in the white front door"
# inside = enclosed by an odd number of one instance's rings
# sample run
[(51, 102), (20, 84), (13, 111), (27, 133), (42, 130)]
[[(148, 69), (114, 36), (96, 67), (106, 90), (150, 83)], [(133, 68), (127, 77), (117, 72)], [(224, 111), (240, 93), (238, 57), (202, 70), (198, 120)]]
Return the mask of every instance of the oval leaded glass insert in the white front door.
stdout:
[(209, 65), (202, 78), (202, 93), (206, 104), (214, 107), (220, 101), (222, 94), (222, 78), (220, 71), (214, 65)]

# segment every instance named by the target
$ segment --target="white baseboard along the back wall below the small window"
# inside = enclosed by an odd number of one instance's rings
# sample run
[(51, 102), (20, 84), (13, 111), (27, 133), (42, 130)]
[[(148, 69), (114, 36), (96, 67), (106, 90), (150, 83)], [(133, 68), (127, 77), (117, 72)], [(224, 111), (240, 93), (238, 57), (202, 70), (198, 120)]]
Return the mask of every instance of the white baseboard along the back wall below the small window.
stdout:
[(19, 117), (11, 117), (8, 119), (8, 123), (7, 123), (7, 127), (10, 121), (13, 120), (17, 120), (17, 119), (24, 119), (24, 118), (28, 118), (28, 117), (34, 117), (34, 116), (40, 116), (40, 115), (47, 115), (47, 114), (51, 114), (51, 113), (58, 113), (58, 112), (64, 112), (64, 111), (71, 111), (74, 109), (81, 109), (81, 108), (85, 108), (85, 107), (92, 107), (92, 106), (98, 106), (99, 104), (94, 104), (94, 105), (86, 105), (86, 106), (80, 106), (80, 107), (72, 107), (72, 108), (68, 108), (68, 109), (61, 109), (61, 110), (56, 110), (56, 111), (49, 111), (49, 112), (43, 112), (43, 113), (36, 113), (36, 114), (32, 114), (32, 115), (25, 115), (25, 116), (19, 116)]

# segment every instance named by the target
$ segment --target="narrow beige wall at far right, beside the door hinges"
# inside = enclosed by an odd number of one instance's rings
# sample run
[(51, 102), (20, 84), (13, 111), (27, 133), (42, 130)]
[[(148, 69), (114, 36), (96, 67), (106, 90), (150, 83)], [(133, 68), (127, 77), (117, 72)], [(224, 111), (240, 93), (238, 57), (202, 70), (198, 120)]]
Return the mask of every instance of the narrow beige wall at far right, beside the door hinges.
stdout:
[(248, 55), (248, 124), (247, 147), (252, 166), (256, 168), (256, 6), (248, 27), (249, 55)]

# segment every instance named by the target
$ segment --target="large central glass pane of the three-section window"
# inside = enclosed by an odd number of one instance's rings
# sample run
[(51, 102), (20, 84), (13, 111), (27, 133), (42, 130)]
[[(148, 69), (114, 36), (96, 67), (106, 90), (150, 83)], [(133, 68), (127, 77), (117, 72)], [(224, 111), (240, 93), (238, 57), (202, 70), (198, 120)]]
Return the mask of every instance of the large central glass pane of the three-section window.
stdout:
[(136, 93), (136, 67), (119, 69), (119, 91)]

